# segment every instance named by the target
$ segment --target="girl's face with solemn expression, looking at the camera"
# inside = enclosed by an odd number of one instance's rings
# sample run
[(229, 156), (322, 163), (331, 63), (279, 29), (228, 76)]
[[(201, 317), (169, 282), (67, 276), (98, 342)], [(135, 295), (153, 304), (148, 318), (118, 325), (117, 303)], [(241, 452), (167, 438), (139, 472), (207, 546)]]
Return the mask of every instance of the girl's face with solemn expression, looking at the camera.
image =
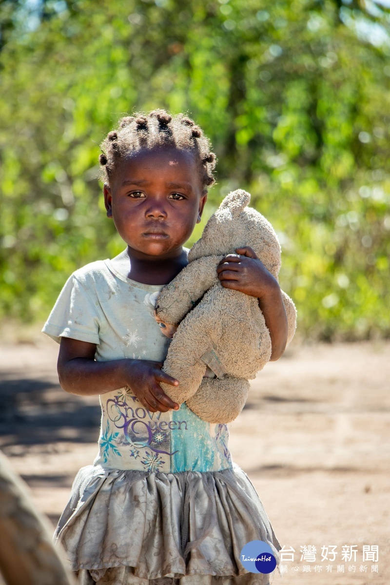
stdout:
[(104, 187), (107, 216), (145, 259), (181, 251), (206, 198), (191, 152), (174, 148), (140, 150), (123, 160)]

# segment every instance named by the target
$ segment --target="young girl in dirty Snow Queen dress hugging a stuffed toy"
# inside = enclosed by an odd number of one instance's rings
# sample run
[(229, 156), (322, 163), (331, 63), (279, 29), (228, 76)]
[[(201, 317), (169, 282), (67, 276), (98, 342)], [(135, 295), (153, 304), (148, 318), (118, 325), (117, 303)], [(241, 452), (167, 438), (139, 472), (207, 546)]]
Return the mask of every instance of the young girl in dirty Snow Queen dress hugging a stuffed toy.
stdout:
[[(268, 575), (241, 563), (247, 542), (281, 549), (226, 425), (202, 421), (160, 382), (168, 339), (154, 319), (158, 291), (186, 266), (182, 245), (201, 220), (215, 156), (191, 119), (156, 110), (123, 118), (102, 143), (108, 218), (126, 250), (75, 271), (43, 332), (60, 343), (67, 392), (99, 395), (99, 453), (75, 478), (57, 526), (82, 585), (247, 585)], [(233, 252), (233, 250), (232, 250)], [(258, 297), (272, 360), (287, 339), (275, 278), (253, 250), (218, 267), (220, 283)]]

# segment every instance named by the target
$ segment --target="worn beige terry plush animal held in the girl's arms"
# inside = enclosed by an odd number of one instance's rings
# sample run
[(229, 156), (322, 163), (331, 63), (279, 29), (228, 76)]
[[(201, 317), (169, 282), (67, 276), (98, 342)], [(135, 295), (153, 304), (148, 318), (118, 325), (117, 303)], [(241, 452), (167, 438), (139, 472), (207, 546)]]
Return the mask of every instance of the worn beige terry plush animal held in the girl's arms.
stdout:
[[(270, 333), (257, 298), (223, 287), (216, 273), (226, 254), (251, 246), (278, 278), (277, 236), (263, 215), (247, 207), (249, 201), (243, 190), (227, 195), (192, 246), (188, 265), (158, 295), (154, 312), (163, 332), (172, 337), (163, 370), (180, 381), (178, 387), (164, 383), (161, 387), (172, 400), (187, 402), (195, 414), (212, 423), (230, 422), (239, 415), (248, 380), (271, 357)], [(296, 309), (283, 291), (282, 297), (289, 343)]]

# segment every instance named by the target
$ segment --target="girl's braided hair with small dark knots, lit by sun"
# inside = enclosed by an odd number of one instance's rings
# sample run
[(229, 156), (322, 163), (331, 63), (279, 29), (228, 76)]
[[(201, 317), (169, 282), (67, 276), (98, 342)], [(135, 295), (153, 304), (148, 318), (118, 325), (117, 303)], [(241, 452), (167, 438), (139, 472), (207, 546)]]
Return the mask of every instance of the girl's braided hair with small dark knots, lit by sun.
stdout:
[(182, 113), (171, 116), (163, 109), (155, 109), (149, 114), (125, 116), (119, 120), (118, 129), (109, 132), (100, 147), (103, 181), (109, 181), (120, 160), (132, 153), (144, 148), (175, 147), (194, 154), (203, 190), (215, 183), (213, 171), (216, 157), (210, 150), (210, 141), (201, 128)]

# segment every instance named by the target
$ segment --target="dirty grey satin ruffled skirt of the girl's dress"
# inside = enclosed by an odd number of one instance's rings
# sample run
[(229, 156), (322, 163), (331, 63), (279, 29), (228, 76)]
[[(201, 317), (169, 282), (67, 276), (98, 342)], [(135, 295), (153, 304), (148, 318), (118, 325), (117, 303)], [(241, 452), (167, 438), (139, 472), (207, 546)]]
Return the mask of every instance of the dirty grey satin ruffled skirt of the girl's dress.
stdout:
[(240, 552), (249, 541), (281, 546), (248, 476), (147, 473), (82, 467), (58, 522), (81, 585), (267, 585)]

